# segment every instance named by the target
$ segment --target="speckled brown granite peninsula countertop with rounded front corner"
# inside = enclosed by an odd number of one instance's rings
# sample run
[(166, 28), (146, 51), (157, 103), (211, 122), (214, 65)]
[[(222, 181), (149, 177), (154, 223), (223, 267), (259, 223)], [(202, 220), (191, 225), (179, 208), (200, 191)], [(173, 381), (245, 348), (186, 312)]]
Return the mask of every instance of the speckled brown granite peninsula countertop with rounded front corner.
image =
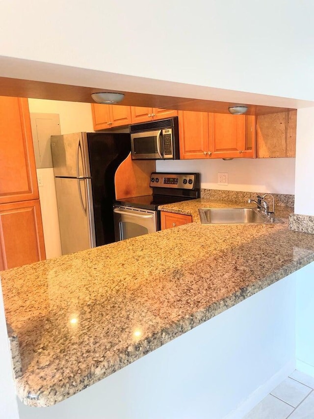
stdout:
[[(172, 209), (197, 221), (204, 203)], [(194, 222), (1, 272), (21, 400), (53, 405), (312, 262), (314, 235), (285, 220)]]

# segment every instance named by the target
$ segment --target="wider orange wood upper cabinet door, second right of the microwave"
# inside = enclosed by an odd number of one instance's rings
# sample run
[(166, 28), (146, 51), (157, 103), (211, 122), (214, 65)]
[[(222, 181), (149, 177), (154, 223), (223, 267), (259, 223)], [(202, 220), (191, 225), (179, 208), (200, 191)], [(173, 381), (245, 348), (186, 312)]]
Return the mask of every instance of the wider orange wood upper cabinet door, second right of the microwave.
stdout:
[(255, 117), (209, 113), (211, 158), (256, 157)]

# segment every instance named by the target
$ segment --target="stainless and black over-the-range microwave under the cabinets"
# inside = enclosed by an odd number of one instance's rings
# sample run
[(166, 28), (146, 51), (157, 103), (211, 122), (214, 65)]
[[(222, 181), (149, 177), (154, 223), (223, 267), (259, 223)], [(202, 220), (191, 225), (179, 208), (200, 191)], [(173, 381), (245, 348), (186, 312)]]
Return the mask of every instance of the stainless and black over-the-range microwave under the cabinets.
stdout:
[(130, 134), (132, 159), (180, 159), (178, 116), (130, 125)]

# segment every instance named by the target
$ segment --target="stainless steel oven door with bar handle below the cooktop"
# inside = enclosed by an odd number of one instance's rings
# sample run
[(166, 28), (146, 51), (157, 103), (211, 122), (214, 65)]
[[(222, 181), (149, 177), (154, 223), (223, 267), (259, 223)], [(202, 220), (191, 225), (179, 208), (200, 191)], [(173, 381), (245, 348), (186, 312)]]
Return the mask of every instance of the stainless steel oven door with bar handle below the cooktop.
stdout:
[(157, 231), (157, 211), (113, 206), (115, 241)]

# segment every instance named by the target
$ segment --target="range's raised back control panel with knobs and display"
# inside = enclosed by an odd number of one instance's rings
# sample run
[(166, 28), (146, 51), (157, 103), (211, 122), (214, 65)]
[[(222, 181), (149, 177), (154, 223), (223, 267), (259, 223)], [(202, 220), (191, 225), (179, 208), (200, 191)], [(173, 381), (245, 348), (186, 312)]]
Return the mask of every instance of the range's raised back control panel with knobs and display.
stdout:
[(194, 189), (196, 183), (195, 173), (156, 173), (151, 174), (152, 188)]

